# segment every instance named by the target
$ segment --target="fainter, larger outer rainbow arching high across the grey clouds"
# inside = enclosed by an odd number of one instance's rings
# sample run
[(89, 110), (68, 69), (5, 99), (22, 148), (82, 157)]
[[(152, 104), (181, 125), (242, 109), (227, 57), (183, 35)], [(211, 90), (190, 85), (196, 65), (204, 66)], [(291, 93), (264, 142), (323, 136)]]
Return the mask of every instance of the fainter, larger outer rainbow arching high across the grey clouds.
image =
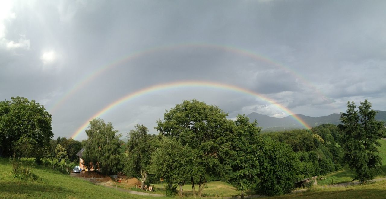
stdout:
[(241, 54), (243, 56), (247, 56), (250, 58), (253, 58), (254, 60), (262, 61), (265, 63), (268, 63), (270, 65), (276, 66), (278, 68), (281, 68), (289, 73), (291, 73), (294, 77), (300, 79), (302, 82), (305, 83), (308, 87), (312, 88), (312, 90), (316, 91), (323, 99), (328, 99), (324, 94), (322, 94), (316, 86), (314, 86), (311, 82), (306, 80), (305, 77), (300, 75), (299, 73), (296, 73), (296, 71), (291, 70), (290, 68), (273, 61), (269, 58), (266, 58), (264, 56), (255, 54), (251, 51), (235, 48), (232, 46), (220, 46), (215, 44), (174, 44), (174, 45), (168, 45), (168, 46), (160, 46), (157, 48), (150, 48), (143, 51), (139, 51), (137, 53), (130, 54), (129, 56), (124, 56), (123, 58), (118, 59), (117, 61), (114, 61), (112, 63), (108, 63), (107, 65), (103, 65), (99, 67), (97, 70), (93, 71), (92, 73), (89, 73), (84, 78), (82, 78), (79, 82), (75, 83), (73, 87), (71, 87), (66, 93), (64, 93), (60, 99), (58, 99), (51, 107), (48, 108), (49, 112), (51, 114), (55, 112), (63, 103), (68, 100), (71, 96), (73, 96), (76, 92), (78, 92), (81, 88), (83, 88), (85, 85), (90, 83), (95, 78), (99, 77), (103, 73), (105, 73), (107, 70), (110, 70), (114, 67), (120, 66), (123, 63), (129, 62), (130, 60), (134, 60), (135, 58), (139, 58), (141, 56), (145, 56), (147, 54), (156, 53), (158, 51), (164, 51), (164, 50), (172, 50), (172, 49), (179, 49), (179, 48), (210, 48), (210, 49), (218, 49), (222, 51), (228, 51), (236, 54)]

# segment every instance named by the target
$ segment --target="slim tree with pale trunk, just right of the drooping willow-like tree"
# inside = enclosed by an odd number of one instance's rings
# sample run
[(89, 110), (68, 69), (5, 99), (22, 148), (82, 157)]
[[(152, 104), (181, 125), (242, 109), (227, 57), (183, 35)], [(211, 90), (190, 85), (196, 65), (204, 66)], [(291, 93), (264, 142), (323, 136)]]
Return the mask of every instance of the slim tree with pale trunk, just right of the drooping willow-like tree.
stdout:
[(135, 129), (127, 133), (127, 150), (129, 152), (124, 168), (128, 176), (138, 176), (141, 174), (141, 188), (147, 179), (149, 172), (150, 155), (153, 150), (152, 136), (148, 134), (146, 126), (135, 124)]

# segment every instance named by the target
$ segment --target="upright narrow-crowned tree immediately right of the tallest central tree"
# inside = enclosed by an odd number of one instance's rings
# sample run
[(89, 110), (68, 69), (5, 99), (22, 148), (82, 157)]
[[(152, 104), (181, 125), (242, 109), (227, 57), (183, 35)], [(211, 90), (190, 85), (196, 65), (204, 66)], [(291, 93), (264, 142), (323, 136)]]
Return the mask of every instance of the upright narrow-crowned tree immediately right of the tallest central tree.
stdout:
[(259, 177), (262, 145), (260, 131), (256, 121), (251, 123), (245, 115), (238, 115), (234, 133), (229, 139), (229, 150), (223, 151), (223, 165), (228, 171), (224, 175), (225, 180), (241, 191), (242, 199), (244, 192), (255, 185)]

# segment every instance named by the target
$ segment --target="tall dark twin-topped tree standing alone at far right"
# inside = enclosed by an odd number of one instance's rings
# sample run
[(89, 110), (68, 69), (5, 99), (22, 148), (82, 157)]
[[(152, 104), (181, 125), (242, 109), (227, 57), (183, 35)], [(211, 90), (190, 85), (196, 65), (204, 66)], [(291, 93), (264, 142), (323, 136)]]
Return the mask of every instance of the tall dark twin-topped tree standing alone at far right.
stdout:
[(358, 108), (354, 102), (347, 102), (347, 111), (341, 113), (342, 149), (345, 161), (356, 170), (355, 179), (368, 182), (380, 172), (382, 165), (376, 146), (381, 146), (377, 139), (384, 136), (383, 122), (376, 121), (376, 111), (367, 99)]

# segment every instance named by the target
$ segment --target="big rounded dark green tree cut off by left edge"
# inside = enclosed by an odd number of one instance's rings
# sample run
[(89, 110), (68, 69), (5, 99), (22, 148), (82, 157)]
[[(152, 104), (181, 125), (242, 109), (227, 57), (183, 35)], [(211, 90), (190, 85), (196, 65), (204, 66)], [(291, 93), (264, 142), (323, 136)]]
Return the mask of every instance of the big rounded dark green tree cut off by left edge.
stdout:
[(51, 114), (35, 100), (0, 102), (0, 155), (40, 157), (52, 136)]

